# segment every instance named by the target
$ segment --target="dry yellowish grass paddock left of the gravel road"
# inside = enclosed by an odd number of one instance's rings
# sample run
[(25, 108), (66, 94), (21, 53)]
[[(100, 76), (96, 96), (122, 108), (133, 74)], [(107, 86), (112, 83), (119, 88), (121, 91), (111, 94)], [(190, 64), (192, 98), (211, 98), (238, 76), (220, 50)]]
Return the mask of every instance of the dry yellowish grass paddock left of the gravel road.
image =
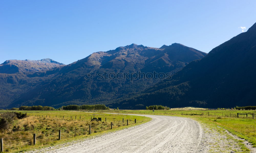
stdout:
[[(6, 111), (0, 111), (0, 113), (3, 112)], [(144, 116), (88, 113), (81, 111), (17, 112), (27, 113), (29, 116), (15, 120), (9, 130), (0, 133), (0, 138), (3, 138), (4, 141), (4, 151), (22, 152), (57, 145), (139, 125), (151, 120), (151, 118)], [(93, 115), (96, 118), (101, 117), (102, 122), (91, 122)], [(122, 122), (123, 118), (124, 123)], [(134, 122), (135, 118), (136, 124)], [(127, 119), (129, 122), (128, 126)], [(111, 129), (111, 122), (113, 129)], [(89, 135), (89, 125), (91, 126), (91, 135)], [(61, 140), (58, 140), (59, 129), (61, 130)], [(35, 146), (33, 146), (33, 134), (36, 134), (37, 139)], [(76, 137), (74, 137), (75, 135)]]

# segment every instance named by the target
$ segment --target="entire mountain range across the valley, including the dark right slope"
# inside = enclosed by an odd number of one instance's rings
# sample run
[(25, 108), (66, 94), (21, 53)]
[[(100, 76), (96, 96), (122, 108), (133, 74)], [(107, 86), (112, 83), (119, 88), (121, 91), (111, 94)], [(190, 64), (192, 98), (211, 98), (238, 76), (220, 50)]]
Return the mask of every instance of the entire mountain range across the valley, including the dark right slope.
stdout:
[[(99, 103), (122, 109), (145, 109), (155, 104), (208, 108), (255, 105), (255, 58), (256, 23), (208, 54), (179, 43), (160, 48), (131, 44), (92, 53), (68, 65), (50, 62), (55, 64), (50, 67), (39, 61), (9, 60), (0, 65), (0, 107), (57, 108)], [(104, 71), (170, 72), (173, 76), (171, 80), (133, 82), (97, 79), (97, 74)], [(88, 74), (94, 78), (85, 79)]]

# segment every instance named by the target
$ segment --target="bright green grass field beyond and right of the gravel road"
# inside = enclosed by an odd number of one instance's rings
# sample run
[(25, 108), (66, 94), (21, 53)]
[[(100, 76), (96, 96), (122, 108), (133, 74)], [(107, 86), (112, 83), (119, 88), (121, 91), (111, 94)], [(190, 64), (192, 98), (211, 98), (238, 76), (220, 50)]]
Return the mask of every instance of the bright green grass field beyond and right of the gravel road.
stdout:
[[(108, 110), (101, 112), (188, 117), (211, 126), (222, 127), (256, 147), (256, 115), (252, 119), (252, 114), (256, 114), (255, 110), (155, 110), (154, 112), (152, 110)], [(237, 113), (248, 114), (248, 117), (239, 115), (237, 118)]]

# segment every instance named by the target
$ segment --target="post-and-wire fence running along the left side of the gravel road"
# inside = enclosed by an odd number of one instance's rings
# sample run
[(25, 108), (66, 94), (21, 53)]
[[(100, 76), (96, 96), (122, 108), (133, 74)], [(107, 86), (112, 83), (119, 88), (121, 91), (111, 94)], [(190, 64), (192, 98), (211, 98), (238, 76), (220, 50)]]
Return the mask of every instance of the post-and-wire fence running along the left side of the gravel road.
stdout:
[[(130, 124), (138, 123), (135, 120), (123, 119), (121, 121), (113, 122), (91, 122), (91, 124), (83, 127), (73, 127), (69, 129), (52, 129), (50, 132), (41, 132), (30, 135), (23, 135), (17, 137), (5, 137), (0, 139), (1, 152), (12, 151), (22, 147), (49, 144), (49, 142), (67, 139), (71, 137), (88, 135), (91, 133), (98, 133), (104, 130), (119, 128)], [(33, 131), (31, 131), (33, 133)]]

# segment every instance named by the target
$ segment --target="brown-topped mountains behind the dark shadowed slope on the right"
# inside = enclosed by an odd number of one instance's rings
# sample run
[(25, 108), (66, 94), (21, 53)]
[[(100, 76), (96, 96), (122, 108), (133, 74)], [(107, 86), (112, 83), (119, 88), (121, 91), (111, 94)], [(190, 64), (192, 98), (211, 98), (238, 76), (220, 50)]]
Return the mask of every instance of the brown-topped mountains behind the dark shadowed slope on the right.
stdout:
[[(178, 43), (164, 45), (161, 48), (131, 44), (115, 50), (92, 53), (68, 65), (50, 62), (55, 64), (50, 69), (45, 67), (45, 64), (48, 64), (49, 68), (49, 62), (42, 64), (40, 61), (9, 60), (11, 62), (4, 62), (0, 66), (5, 70), (2, 71), (5, 73), (0, 74), (2, 86), (0, 94), (3, 97), (0, 107), (20, 105), (60, 107), (68, 104), (97, 103), (108, 105), (127, 94), (146, 89), (160, 80), (137, 79), (131, 82), (125, 79), (99, 80), (96, 77), (86, 80), (84, 77), (87, 74), (93, 72), (92, 75), (95, 76), (104, 71), (113, 73), (155, 71), (174, 74), (189, 62), (205, 55), (204, 52)], [(13, 65), (18, 66), (16, 69), (10, 69), (15, 67)]]

